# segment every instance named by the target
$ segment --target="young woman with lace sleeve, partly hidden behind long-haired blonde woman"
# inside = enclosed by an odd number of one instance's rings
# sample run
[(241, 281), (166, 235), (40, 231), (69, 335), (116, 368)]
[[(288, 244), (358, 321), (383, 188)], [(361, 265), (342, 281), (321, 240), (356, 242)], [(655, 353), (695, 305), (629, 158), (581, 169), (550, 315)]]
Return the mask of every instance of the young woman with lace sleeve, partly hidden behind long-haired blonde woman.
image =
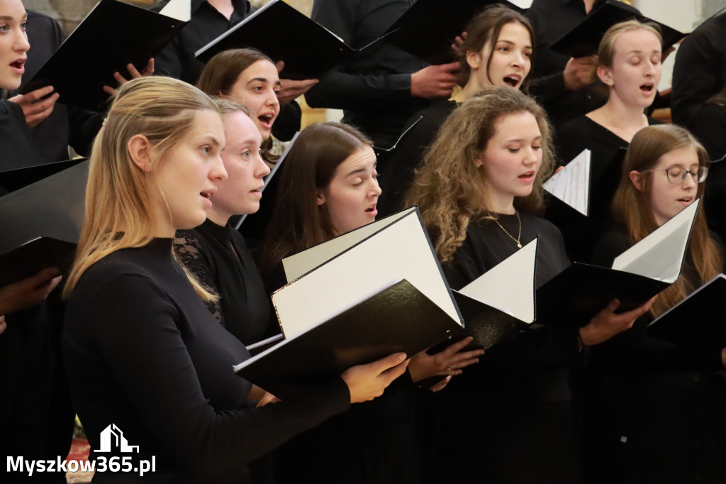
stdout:
[(227, 141), (221, 156), (229, 177), (217, 183), (204, 223), (176, 233), (174, 250), (206, 288), (219, 294), (207, 301), (214, 318), (242, 343), (252, 344), (271, 336), (268, 297), (242, 235), (228, 222), (232, 215), (259, 209), (260, 188), (270, 170), (261, 157), (262, 137), (245, 108), (224, 100), (217, 104)]

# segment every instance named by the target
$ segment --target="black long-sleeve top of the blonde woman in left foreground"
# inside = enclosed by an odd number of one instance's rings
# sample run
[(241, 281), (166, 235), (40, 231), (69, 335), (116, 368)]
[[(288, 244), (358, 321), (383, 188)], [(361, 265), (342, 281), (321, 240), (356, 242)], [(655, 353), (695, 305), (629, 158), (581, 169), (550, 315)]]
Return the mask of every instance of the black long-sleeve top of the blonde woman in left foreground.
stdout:
[[(156, 456), (160, 481), (249, 482), (246, 462), (344, 411), (348, 389), (335, 379), (248, 408), (250, 383), (232, 365), (249, 354), (211, 317), (171, 244), (115, 251), (78, 281), (62, 339), (73, 401), (92, 449), (113, 423), (139, 445), (135, 457)], [(97, 473), (94, 482), (116, 479), (133, 475)]]

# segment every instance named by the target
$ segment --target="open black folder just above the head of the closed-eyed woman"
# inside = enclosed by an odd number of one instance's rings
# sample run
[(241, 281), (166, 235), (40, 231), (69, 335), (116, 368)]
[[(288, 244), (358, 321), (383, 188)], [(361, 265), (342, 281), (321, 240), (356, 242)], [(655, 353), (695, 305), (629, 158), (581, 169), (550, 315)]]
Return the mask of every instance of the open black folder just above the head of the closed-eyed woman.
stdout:
[(683, 39), (684, 33), (674, 28), (640, 15), (637, 10), (621, 2), (606, 1), (596, 9), (593, 9), (581, 23), (575, 25), (571, 31), (560, 37), (551, 46), (555, 52), (570, 57), (585, 57), (597, 54), (597, 48), (603, 39), (605, 32), (616, 23), (626, 20), (640, 20), (641, 22), (652, 22), (658, 25), (663, 36), (663, 49), (672, 47), (677, 41)]

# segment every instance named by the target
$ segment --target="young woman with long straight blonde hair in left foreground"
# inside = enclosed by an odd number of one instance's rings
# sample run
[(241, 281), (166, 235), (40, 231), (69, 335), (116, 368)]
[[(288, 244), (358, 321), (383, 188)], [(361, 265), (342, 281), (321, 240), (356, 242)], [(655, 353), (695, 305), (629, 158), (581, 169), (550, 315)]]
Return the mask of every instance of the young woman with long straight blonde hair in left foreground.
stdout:
[[(160, 482), (250, 482), (246, 463), (295, 433), (380, 395), (405, 355), (356, 366), (307, 395), (250, 408), (231, 366), (244, 345), (174, 259), (176, 230), (200, 225), (227, 179), (219, 110), (198, 89), (143, 78), (119, 89), (94, 142), (86, 219), (65, 286), (65, 363), (91, 448), (113, 424)], [(200, 297), (201, 295), (201, 297)], [(128, 454), (126, 454), (128, 456)], [(121, 457), (121, 449), (94, 457)], [(98, 472), (134, 482), (136, 472)]]

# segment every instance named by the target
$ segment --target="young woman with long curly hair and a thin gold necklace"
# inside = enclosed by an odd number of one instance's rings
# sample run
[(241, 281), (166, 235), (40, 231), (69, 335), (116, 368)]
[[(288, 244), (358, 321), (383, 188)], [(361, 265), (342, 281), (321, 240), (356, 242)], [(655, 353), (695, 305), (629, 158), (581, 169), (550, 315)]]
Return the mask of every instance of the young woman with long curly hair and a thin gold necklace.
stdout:
[[(484, 89), (446, 119), (407, 201), (420, 207), (453, 289), (537, 235), (538, 287), (569, 265), (560, 231), (536, 215), (552, 164), (544, 110), (515, 89)], [(440, 479), (579, 482), (570, 368), (584, 346), (625, 331), (649, 306), (614, 314), (613, 301), (589, 323), (531, 328), (487, 350), (449, 384), (439, 440), (456, 445), (448, 447), (452, 465)]]

